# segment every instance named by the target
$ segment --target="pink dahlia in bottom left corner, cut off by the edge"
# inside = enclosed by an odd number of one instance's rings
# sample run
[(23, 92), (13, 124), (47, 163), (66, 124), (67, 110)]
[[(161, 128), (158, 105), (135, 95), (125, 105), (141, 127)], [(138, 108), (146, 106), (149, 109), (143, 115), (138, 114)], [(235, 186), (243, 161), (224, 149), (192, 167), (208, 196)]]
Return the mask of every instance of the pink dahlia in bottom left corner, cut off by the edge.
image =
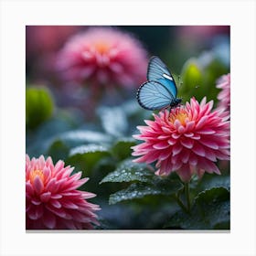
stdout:
[(64, 167), (51, 157), (26, 155), (26, 228), (27, 229), (92, 229), (98, 224), (93, 213), (99, 206), (86, 201), (94, 194), (77, 190), (87, 182), (81, 173), (70, 174), (73, 167)]

